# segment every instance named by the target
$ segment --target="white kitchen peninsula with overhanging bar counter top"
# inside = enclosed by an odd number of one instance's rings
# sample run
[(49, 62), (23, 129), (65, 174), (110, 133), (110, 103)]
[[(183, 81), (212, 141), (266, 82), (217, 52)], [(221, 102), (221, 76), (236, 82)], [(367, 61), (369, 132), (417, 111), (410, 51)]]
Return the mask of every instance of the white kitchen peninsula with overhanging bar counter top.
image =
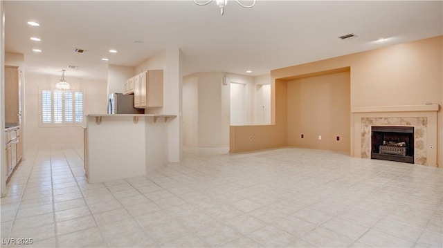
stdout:
[(90, 114), (84, 164), (90, 183), (145, 175), (168, 162), (168, 126), (176, 115)]

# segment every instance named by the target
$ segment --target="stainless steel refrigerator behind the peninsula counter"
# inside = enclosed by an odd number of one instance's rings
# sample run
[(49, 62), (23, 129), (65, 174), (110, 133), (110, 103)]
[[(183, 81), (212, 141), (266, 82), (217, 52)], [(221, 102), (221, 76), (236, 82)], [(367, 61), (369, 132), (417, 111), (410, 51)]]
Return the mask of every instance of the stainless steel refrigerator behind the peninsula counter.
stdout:
[(134, 108), (134, 95), (108, 95), (108, 114), (144, 114), (144, 108)]

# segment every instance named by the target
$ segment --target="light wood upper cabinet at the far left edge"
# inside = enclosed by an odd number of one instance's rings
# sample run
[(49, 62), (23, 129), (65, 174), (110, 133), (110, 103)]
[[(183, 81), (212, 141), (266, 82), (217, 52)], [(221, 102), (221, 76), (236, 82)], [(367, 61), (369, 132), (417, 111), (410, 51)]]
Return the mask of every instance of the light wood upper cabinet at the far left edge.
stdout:
[(5, 66), (5, 122), (20, 124), (20, 76), (17, 66)]

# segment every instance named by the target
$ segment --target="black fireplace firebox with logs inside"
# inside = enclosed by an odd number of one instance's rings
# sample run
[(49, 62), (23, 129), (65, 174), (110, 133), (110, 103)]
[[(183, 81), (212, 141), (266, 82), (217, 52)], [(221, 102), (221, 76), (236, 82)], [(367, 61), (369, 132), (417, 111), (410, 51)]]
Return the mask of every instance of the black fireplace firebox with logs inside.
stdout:
[(371, 126), (371, 158), (414, 164), (414, 127)]

